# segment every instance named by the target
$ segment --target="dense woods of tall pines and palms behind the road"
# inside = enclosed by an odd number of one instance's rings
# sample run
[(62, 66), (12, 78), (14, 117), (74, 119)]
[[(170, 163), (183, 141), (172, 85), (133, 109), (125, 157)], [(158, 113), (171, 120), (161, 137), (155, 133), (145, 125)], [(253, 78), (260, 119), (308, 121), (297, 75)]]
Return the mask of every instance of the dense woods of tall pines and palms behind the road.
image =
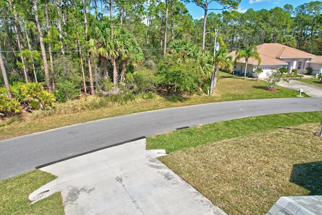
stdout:
[[(81, 91), (204, 89), (215, 29), (220, 47), (228, 50), (278, 42), (322, 54), (318, 1), (246, 13), (235, 11), (239, 0), (193, 1), (205, 12), (200, 20), (189, 14), (188, 1), (178, 0), (0, 1), (0, 84), (41, 82), (60, 101)], [(212, 9), (222, 13), (208, 13)], [(191, 79), (174, 80), (183, 71)]]

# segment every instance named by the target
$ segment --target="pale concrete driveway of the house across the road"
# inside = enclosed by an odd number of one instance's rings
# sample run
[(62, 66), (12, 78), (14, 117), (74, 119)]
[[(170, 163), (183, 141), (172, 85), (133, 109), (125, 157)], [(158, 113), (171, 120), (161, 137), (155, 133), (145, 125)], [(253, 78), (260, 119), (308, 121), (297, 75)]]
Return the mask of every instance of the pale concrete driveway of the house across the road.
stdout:
[[(322, 85), (321, 87), (306, 84), (303, 82), (290, 80), (289, 83), (287, 82), (279, 82), (277, 83), (278, 86), (285, 87), (291, 90), (295, 90), (299, 92), (299, 89), (303, 89), (303, 93), (309, 95), (310, 97), (322, 97)], [(299, 93), (297, 94), (299, 95)]]

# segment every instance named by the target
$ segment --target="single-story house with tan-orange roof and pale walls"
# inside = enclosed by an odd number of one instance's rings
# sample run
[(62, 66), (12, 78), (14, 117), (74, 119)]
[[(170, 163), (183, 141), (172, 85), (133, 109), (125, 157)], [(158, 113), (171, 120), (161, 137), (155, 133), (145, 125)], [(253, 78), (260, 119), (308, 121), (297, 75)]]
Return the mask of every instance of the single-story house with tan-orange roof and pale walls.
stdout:
[[(257, 67), (260, 67), (263, 69), (263, 73), (259, 75), (260, 78), (266, 78), (267, 71), (271, 71), (273, 68), (278, 69), (286, 67), (289, 69), (289, 73), (291, 73), (294, 68), (297, 70), (305, 69), (309, 66), (309, 61), (315, 59), (314, 54), (282, 45), (280, 43), (263, 43), (257, 46), (257, 52), (261, 57), (261, 63), (258, 65), (258, 60), (253, 57), (249, 58), (247, 74), (254, 71)], [(231, 55), (234, 60), (236, 57), (236, 51), (232, 51), (228, 55)], [(233, 71), (235, 73), (244, 74), (245, 57), (236, 60), (236, 63), (233, 64)]]

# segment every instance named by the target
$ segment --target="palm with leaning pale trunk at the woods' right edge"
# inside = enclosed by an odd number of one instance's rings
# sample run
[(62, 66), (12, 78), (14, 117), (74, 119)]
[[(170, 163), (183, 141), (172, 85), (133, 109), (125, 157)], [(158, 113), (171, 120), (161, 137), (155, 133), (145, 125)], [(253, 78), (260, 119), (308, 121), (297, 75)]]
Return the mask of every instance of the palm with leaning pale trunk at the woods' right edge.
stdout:
[(220, 48), (213, 59), (215, 65), (214, 74), (211, 79), (211, 89), (210, 92), (213, 93), (217, 85), (217, 76), (220, 68), (225, 68), (227, 70), (232, 69), (232, 56), (228, 56), (228, 50), (225, 48)]

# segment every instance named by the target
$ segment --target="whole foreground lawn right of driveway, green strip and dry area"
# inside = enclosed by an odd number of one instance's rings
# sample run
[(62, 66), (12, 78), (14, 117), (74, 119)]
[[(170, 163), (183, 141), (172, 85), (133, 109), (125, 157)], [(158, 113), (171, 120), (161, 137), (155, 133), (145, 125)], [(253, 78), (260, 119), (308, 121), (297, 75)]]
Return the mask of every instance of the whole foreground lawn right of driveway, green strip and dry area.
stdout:
[(166, 149), (159, 160), (228, 214), (265, 214), (281, 196), (322, 195), (320, 121), (320, 112), (235, 119), (148, 137), (147, 149)]

